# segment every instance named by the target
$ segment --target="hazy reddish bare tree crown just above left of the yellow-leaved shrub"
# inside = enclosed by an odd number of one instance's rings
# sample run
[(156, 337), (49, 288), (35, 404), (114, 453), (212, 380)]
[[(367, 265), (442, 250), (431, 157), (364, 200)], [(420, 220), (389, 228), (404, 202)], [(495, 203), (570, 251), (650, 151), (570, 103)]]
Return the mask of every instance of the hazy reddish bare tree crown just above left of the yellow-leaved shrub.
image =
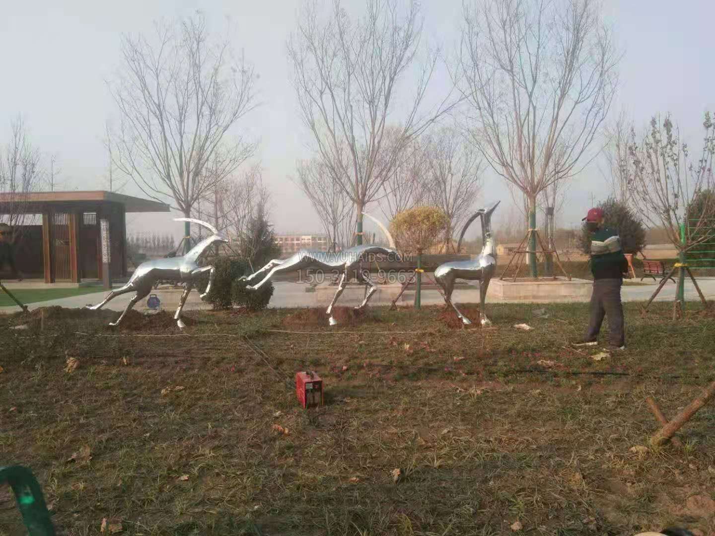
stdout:
[(395, 216), (428, 199), (427, 154), (421, 138), (409, 142), (383, 182), (380, 208), (392, 222)]

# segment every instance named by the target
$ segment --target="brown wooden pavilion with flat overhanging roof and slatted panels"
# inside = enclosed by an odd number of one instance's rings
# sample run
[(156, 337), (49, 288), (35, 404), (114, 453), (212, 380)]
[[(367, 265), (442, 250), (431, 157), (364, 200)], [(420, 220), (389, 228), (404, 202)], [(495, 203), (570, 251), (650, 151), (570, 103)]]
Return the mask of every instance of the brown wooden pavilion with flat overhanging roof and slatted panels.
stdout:
[(0, 192), (0, 215), (21, 221), (24, 214), (29, 223), (17, 229), (17, 268), (26, 277), (44, 274), (46, 283), (104, 279), (106, 267), (111, 279), (127, 277), (127, 212), (169, 212), (169, 205), (103, 190)]

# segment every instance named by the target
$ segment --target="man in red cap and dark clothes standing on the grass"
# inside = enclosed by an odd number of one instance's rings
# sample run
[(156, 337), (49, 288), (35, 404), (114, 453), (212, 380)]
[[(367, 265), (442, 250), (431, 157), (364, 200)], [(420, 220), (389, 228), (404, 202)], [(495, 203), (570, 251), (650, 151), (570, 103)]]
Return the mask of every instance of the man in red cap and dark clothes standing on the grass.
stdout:
[[(598, 207), (588, 211), (583, 218), (591, 234), (591, 273), (593, 273), (593, 294), (591, 294), (591, 319), (586, 337), (575, 346), (595, 346), (601, 331), (603, 317), (608, 316), (608, 349), (626, 349), (623, 333), (623, 305), (621, 286), (623, 274), (628, 272), (628, 261), (621, 250), (618, 232), (603, 227), (603, 209)], [(583, 221), (582, 220), (582, 221)]]

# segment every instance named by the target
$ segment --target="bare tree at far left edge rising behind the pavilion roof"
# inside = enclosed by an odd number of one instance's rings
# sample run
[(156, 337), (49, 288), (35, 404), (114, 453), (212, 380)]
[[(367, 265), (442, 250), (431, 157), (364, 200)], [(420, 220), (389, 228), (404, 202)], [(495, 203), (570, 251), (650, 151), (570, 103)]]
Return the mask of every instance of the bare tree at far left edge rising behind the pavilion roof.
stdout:
[(42, 184), (44, 169), (41, 153), (30, 142), (22, 117), (17, 116), (10, 125), (10, 141), (4, 148), (0, 147), (0, 192), (7, 197), (7, 201), (4, 201), (5, 197), (0, 198), (0, 222), (12, 228), (11, 240), (14, 242), (29, 218), (23, 199)]

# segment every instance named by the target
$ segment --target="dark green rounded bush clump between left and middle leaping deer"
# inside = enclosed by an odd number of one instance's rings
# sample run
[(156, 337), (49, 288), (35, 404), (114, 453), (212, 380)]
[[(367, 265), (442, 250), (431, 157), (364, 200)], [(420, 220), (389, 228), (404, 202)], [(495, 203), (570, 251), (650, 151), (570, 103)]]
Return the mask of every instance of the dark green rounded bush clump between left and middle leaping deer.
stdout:
[[(260, 290), (246, 290), (249, 282), (240, 281), (240, 277), (252, 273), (250, 264), (245, 259), (235, 257), (215, 257), (212, 264), (216, 268), (211, 291), (205, 298), (214, 309), (230, 309), (234, 305), (246, 307), (251, 311), (265, 309), (273, 295), (273, 284), (267, 284)], [(205, 277), (205, 284), (208, 276)]]

